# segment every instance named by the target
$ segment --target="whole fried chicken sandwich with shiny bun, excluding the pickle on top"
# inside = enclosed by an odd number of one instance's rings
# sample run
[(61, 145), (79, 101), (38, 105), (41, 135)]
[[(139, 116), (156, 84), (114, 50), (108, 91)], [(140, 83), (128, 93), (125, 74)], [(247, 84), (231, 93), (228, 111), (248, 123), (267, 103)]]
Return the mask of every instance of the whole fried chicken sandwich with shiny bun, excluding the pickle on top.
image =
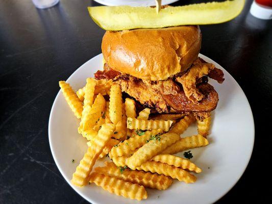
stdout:
[(208, 77), (222, 83), (224, 73), (198, 57), (201, 36), (198, 26), (107, 31), (102, 41), (106, 63), (95, 78), (117, 82), (153, 112), (205, 118), (218, 102)]

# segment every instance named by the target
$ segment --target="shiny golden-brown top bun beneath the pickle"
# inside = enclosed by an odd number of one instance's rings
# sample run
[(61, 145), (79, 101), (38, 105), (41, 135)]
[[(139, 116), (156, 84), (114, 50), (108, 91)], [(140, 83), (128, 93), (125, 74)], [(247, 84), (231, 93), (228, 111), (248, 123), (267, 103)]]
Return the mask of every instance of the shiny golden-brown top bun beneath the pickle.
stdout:
[(102, 53), (108, 65), (142, 80), (166, 80), (185, 71), (199, 54), (198, 26), (107, 31)]

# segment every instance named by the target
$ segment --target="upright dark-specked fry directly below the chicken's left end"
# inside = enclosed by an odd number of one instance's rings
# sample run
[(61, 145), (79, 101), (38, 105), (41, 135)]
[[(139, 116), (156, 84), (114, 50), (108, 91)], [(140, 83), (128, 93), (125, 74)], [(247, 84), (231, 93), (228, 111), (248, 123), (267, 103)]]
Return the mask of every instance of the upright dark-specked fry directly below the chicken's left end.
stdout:
[(118, 84), (111, 87), (110, 92), (110, 120), (113, 124), (117, 124), (122, 120), (122, 92)]

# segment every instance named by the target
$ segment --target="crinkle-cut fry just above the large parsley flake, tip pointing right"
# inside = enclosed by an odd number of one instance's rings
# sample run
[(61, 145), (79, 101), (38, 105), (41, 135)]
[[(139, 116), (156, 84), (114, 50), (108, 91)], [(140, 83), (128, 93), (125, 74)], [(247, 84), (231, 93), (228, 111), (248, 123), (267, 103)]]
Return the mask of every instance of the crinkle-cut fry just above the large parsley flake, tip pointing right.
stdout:
[(196, 147), (203, 147), (208, 144), (209, 144), (208, 140), (202, 135), (194, 135), (190, 137), (181, 138), (175, 144), (172, 144), (171, 146), (168, 146), (166, 149), (164, 149), (162, 151), (162, 154), (174, 155), (180, 151)]

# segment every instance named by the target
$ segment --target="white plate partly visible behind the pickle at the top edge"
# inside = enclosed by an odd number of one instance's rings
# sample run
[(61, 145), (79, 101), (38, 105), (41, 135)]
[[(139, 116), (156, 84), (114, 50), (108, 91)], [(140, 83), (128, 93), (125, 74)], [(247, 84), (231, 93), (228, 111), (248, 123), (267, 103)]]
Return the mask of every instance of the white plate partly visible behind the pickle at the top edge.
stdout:
[[(106, 6), (155, 6), (155, 0), (94, 0), (97, 3), (106, 5)], [(162, 5), (172, 4), (178, 0), (162, 0)]]

